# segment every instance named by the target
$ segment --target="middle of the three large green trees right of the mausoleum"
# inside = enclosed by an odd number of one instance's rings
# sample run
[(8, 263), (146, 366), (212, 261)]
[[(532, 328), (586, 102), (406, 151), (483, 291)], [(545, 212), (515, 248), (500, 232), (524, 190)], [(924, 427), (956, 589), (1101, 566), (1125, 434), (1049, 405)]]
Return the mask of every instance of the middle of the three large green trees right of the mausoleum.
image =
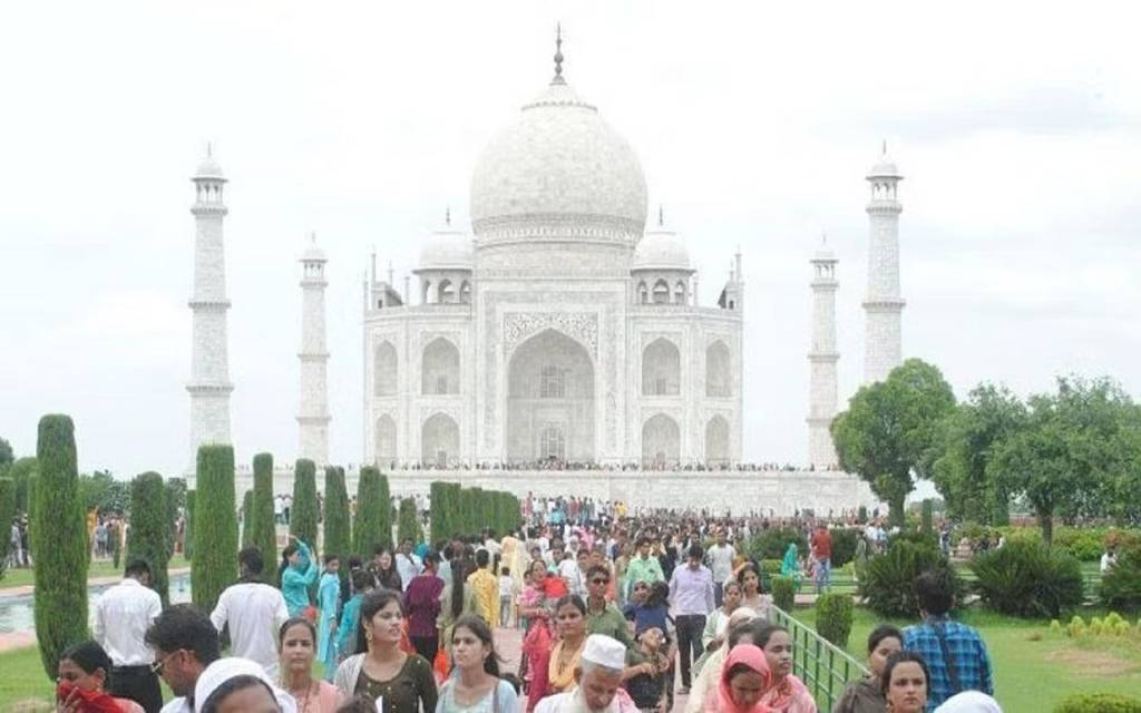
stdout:
[(987, 465), (997, 444), (1020, 429), (1026, 418), (1026, 406), (1014, 394), (986, 383), (947, 415), (931, 479), (949, 517), (984, 525), (1010, 520), (1010, 494), (987, 475)]

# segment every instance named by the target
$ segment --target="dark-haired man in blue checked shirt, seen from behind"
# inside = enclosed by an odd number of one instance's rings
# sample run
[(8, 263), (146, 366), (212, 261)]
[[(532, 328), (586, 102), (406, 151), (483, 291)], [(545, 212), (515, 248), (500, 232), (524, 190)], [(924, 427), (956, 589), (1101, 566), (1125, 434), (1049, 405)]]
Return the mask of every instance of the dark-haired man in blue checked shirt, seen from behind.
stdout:
[(923, 623), (904, 631), (904, 648), (926, 662), (931, 707), (964, 690), (994, 695), (990, 655), (982, 637), (948, 616), (955, 606), (952, 575), (945, 570), (924, 572), (915, 580), (915, 594)]

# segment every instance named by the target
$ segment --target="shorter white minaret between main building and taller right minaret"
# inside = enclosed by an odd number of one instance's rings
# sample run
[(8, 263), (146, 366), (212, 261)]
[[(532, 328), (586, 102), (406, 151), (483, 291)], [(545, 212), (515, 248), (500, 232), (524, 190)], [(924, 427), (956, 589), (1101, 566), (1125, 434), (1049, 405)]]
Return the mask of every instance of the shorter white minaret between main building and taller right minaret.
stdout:
[(832, 443), (832, 419), (836, 415), (836, 256), (824, 238), (820, 250), (809, 260), (812, 266), (812, 348), (808, 387), (808, 462), (817, 470), (836, 465)]

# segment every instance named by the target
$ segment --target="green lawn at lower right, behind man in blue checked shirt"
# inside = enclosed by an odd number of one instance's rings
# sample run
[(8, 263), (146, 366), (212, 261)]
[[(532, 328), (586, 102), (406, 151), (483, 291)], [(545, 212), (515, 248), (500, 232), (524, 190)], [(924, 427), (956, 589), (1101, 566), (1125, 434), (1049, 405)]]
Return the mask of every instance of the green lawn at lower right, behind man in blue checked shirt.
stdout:
[[(1092, 611), (1094, 616), (1102, 614)], [(815, 609), (798, 608), (793, 616), (809, 625), (816, 621)], [(1082, 616), (1089, 622), (1089, 613)], [(1141, 695), (1141, 637), (1136, 633), (1075, 641), (1065, 633), (1051, 633), (1045, 621), (1025, 622), (977, 609), (957, 618), (982, 632), (994, 665), (995, 694), (1005, 711), (1049, 713), (1073, 692)], [(882, 621), (857, 607), (849, 654), (863, 662), (867, 635)], [(1130, 621), (1135, 624), (1136, 617)], [(903, 629), (914, 622), (889, 623)]]

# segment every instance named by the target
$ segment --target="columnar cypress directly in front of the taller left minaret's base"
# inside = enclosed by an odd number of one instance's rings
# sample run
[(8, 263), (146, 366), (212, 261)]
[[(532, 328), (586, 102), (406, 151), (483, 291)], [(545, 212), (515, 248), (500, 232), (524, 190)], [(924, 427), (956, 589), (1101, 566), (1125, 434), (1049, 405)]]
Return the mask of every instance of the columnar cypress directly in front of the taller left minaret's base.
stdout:
[(212, 611), (218, 595), (237, 578), (237, 507), (234, 495), (234, 448), (199, 448), (197, 493), (194, 500), (194, 565), (191, 595), (194, 606)]

